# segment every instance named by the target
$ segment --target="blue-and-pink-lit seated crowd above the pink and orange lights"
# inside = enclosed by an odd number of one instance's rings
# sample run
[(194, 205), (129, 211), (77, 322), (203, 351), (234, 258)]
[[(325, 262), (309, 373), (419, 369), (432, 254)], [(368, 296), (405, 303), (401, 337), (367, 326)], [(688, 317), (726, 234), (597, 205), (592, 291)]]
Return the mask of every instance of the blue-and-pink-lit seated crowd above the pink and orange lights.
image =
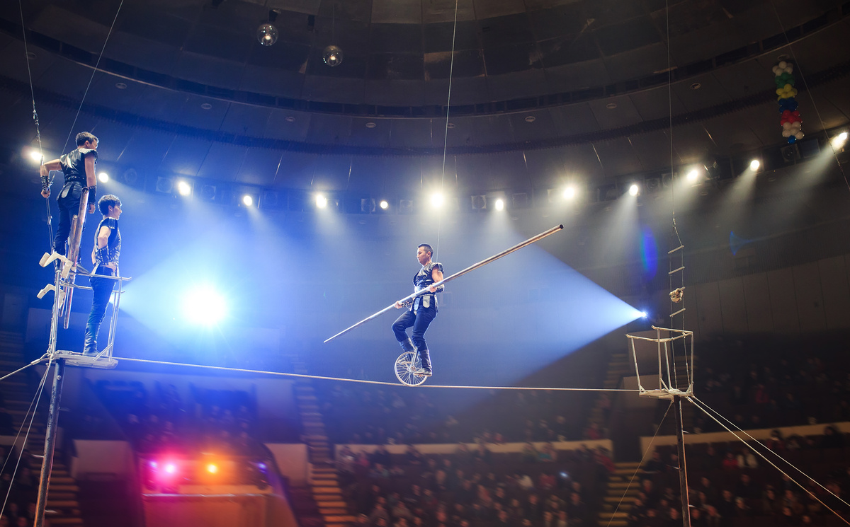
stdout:
[(245, 391), (193, 385), (190, 401), (183, 401), (173, 384), (157, 383), (149, 393), (140, 382), (99, 381), (95, 390), (139, 452), (252, 456), (260, 447), (256, 404)]

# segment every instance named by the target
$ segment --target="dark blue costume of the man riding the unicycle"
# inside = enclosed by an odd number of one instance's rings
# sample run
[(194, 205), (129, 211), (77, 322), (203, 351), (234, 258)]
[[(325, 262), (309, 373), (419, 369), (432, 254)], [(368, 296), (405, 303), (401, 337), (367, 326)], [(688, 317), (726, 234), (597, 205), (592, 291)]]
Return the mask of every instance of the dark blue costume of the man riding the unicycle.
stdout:
[[(443, 272), (443, 265), (437, 262), (430, 262), (428, 265), (422, 266), (422, 269), (413, 277), (413, 286), (416, 292), (422, 289), (428, 289), (428, 286), (434, 283), (433, 270), (439, 269)], [(437, 292), (441, 292), (444, 286), (439, 286)], [(425, 332), (428, 331), (428, 326), (437, 316), (437, 297), (434, 294), (422, 294), (413, 299), (413, 304), (408, 311), (405, 311), (393, 323), (393, 333), (395, 339), (399, 341), (401, 348), (405, 351), (419, 351), (419, 357), (422, 360), (422, 369), (431, 373), (431, 356), (428, 353), (428, 344), (425, 343)], [(413, 327), (411, 338), (407, 336), (407, 328)], [(414, 348), (414, 346), (416, 346)]]

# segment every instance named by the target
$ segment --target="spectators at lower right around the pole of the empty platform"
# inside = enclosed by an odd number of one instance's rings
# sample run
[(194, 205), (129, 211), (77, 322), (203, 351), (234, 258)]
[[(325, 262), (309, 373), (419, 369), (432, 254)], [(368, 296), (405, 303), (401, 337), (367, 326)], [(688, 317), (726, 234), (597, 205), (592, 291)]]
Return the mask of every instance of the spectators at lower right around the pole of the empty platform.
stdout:
[[(838, 499), (846, 499), (843, 491), (850, 488), (850, 452), (844, 451), (844, 442), (843, 434), (832, 426), (825, 427), (822, 435), (808, 437), (785, 438), (774, 430), (759, 448), (797, 483), (743, 444), (689, 446), (691, 525), (824, 525), (835, 518), (827, 507), (846, 516), (850, 507)], [(778, 461), (767, 450), (792, 465), (805, 465), (813, 479)], [(682, 524), (678, 464), (672, 448), (653, 452), (643, 466), (641, 490), (629, 511), (630, 527)]]

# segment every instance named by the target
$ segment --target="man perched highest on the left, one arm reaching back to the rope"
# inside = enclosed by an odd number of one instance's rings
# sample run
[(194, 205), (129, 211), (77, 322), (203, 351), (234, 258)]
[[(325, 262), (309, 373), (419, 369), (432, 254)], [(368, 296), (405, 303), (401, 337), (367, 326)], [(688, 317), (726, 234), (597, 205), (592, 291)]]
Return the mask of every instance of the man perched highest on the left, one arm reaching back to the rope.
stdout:
[[(62, 169), (65, 184), (59, 193), (59, 227), (56, 228), (54, 251), (65, 255), (65, 243), (71, 233), (71, 219), (80, 210), (82, 188), (88, 187), (88, 214), (94, 214), (96, 203), (95, 191), (97, 179), (94, 168), (98, 160), (98, 138), (88, 132), (77, 134), (77, 149), (71, 150), (58, 160), (48, 161), (42, 165), (42, 196), (50, 197), (48, 188), (48, 172)], [(76, 263), (76, 262), (75, 262)]]

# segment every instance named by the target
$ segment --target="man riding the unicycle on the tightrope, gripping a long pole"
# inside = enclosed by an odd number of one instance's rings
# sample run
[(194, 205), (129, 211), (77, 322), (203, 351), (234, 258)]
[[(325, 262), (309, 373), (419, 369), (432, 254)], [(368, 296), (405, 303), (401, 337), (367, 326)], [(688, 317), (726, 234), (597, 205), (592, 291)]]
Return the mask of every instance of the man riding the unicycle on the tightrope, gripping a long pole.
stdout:
[[(443, 265), (431, 261), (433, 249), (428, 244), (421, 244), (416, 248), (416, 260), (422, 265), (422, 269), (413, 277), (413, 286), (416, 292), (422, 289), (428, 289), (431, 293), (440, 293), (445, 289), (444, 286), (434, 288), (433, 284), (443, 280)], [(399, 302), (395, 303), (396, 309), (404, 307)], [(405, 351), (419, 351), (419, 357), (422, 360), (422, 369), (416, 373), (420, 375), (430, 376), (433, 374), (431, 370), (431, 356), (428, 354), (428, 345), (425, 343), (425, 332), (428, 331), (428, 326), (437, 316), (437, 297), (433, 294), (423, 294), (413, 299), (411, 309), (405, 311), (393, 323), (393, 332), (395, 338), (398, 339), (401, 349)], [(413, 327), (413, 340), (407, 336), (407, 328)], [(414, 346), (416, 346), (414, 348)]]

